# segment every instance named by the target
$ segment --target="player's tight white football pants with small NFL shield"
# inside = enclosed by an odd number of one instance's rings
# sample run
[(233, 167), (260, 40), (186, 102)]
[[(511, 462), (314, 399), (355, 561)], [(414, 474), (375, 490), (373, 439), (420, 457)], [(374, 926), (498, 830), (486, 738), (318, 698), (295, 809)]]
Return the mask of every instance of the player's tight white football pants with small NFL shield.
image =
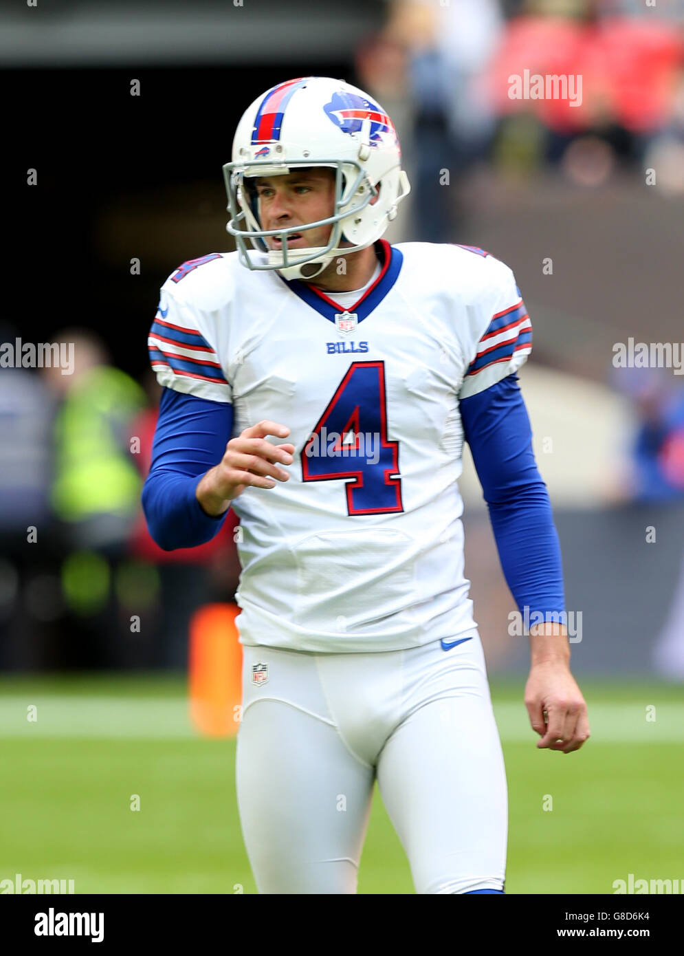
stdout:
[(502, 890), (505, 771), (471, 633), (449, 650), (245, 646), (237, 793), (260, 893), (356, 892), (375, 776), (417, 893)]

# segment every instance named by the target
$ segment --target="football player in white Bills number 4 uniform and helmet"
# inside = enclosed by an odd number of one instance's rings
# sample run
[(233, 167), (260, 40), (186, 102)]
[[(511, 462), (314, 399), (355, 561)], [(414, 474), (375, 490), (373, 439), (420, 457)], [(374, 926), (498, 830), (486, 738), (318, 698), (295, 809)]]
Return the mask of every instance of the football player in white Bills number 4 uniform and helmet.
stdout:
[[(354, 893), (374, 781), (417, 893), (501, 894), (507, 797), (464, 576), (466, 441), (529, 628), (537, 746), (588, 738), (558, 536), (516, 372), (531, 325), (484, 250), (381, 237), (395, 128), (337, 79), (256, 98), (224, 166), (235, 252), (161, 288), (143, 490), (165, 549), (240, 518), (237, 790), (261, 893)], [(533, 617), (536, 616), (536, 617)]]

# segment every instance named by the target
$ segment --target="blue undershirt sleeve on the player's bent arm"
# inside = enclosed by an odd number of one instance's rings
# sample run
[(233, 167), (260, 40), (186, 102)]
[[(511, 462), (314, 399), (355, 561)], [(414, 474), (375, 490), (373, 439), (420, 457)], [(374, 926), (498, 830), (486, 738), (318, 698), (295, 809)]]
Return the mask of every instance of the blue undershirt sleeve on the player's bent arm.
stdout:
[(150, 534), (164, 551), (194, 548), (221, 529), (227, 511), (218, 517), (206, 514), (195, 489), (224, 457), (232, 427), (229, 402), (162, 390), (142, 510)]

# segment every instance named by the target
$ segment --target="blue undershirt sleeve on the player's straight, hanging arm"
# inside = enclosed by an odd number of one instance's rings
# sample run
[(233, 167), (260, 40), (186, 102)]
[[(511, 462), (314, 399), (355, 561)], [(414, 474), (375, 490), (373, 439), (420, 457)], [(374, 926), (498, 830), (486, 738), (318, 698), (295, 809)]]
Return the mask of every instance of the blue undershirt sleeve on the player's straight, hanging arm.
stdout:
[[(532, 623), (565, 612), (561, 548), (548, 491), (532, 450), (532, 430), (513, 374), (461, 399), (470, 445), (497, 543), (503, 576)], [(543, 615), (543, 618), (538, 617)]]

